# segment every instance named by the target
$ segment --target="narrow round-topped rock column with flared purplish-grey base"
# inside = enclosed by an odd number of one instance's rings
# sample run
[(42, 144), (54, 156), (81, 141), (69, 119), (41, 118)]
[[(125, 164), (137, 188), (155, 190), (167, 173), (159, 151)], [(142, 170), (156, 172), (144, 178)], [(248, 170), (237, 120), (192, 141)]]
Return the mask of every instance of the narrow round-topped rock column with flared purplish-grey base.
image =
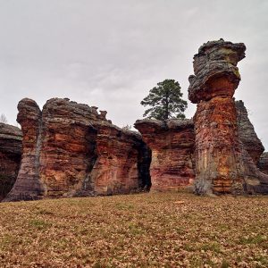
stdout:
[(24, 98), (18, 105), (17, 121), (23, 133), (21, 168), (18, 178), (4, 201), (33, 200), (43, 196), (40, 181), (40, 149), (42, 143), (42, 113), (37, 103)]

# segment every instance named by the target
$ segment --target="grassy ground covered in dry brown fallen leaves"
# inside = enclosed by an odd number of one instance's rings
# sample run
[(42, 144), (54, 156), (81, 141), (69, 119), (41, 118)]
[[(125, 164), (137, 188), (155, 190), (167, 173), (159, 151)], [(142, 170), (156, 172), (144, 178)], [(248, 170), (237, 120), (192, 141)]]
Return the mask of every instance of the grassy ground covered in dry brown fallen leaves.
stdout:
[(268, 197), (187, 193), (0, 205), (0, 267), (267, 267)]

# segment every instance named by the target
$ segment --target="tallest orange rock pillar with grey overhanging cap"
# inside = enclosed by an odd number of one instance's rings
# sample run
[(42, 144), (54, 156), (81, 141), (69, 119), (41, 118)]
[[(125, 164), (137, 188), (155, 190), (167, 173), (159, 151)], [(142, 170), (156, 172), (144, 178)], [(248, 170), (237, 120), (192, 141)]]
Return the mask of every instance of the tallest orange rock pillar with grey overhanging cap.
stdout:
[(197, 103), (197, 194), (268, 192), (268, 177), (258, 171), (241, 140), (233, 99), (239, 86), (237, 63), (246, 46), (224, 40), (207, 42), (194, 56), (188, 97)]

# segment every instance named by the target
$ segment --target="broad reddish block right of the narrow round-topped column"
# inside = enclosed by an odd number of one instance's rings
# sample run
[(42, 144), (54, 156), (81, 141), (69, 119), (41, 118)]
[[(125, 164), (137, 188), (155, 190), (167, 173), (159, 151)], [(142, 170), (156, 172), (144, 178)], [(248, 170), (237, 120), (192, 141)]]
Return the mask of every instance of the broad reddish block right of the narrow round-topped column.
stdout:
[(88, 105), (53, 98), (42, 112), (40, 180), (48, 197), (89, 195), (88, 177), (96, 161), (97, 113)]

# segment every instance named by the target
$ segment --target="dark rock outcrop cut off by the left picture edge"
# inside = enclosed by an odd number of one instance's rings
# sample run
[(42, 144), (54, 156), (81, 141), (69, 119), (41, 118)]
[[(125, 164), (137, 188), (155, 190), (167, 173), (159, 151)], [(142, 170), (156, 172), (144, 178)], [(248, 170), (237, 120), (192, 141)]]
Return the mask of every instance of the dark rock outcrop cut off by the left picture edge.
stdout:
[(0, 201), (13, 188), (21, 163), (22, 133), (17, 127), (0, 123)]

